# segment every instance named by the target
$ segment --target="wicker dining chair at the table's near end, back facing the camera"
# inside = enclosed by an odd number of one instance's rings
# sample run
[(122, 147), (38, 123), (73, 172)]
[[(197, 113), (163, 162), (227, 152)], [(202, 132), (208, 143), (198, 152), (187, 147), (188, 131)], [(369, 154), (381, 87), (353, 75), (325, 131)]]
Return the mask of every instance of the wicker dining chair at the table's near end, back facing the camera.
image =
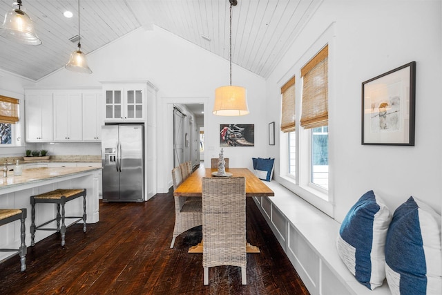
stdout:
[(209, 285), (209, 267), (241, 267), (247, 285), (245, 178), (202, 178), (202, 267)]

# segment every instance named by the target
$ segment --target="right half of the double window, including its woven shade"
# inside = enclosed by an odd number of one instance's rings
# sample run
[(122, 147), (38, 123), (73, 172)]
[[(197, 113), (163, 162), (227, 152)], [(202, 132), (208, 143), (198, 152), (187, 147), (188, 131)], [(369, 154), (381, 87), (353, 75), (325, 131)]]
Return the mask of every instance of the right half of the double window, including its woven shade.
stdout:
[[(328, 189), (328, 46), (302, 69), (300, 125), (310, 132), (309, 183)], [(308, 130), (310, 129), (310, 130)]]

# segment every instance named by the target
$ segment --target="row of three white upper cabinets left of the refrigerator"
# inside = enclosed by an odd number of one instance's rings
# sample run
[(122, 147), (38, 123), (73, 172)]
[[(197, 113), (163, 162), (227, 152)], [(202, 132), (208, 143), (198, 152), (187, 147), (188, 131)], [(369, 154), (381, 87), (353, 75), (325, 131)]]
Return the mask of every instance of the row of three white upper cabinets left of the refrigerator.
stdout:
[(26, 142), (100, 142), (102, 87), (26, 89)]

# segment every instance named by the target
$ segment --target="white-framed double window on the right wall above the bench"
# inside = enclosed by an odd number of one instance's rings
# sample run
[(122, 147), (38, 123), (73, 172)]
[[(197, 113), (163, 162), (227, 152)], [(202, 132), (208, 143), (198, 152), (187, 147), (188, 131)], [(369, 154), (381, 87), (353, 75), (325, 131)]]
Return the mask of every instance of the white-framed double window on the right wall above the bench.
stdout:
[[(328, 104), (334, 97), (329, 97), (328, 80), (333, 73), (333, 54), (329, 57), (329, 42), (333, 41), (333, 26), (314, 41), (302, 55), (294, 56), (295, 64), (287, 65), (294, 70), (293, 98), (293, 130), (284, 131), (282, 126), (285, 114), (285, 93), (291, 76), (286, 76), (281, 87), (281, 133), (279, 136), (279, 174), (276, 180), (297, 196), (329, 216), (334, 216), (334, 189), (332, 180), (333, 159), (329, 151), (333, 151), (332, 126), (329, 126)], [(333, 52), (331, 52), (333, 53)], [(286, 75), (286, 74), (285, 74)], [(285, 83), (285, 84), (284, 84)], [(283, 85), (283, 86), (282, 86)], [(295, 88), (296, 86), (296, 88)], [(331, 87), (331, 90), (333, 88)]]

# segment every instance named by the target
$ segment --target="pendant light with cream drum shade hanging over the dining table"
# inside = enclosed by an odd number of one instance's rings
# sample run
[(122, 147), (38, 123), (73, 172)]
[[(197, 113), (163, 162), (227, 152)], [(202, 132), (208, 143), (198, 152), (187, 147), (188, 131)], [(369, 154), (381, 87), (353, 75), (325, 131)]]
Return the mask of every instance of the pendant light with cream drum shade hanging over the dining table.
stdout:
[(215, 104), (213, 114), (220, 116), (242, 116), (249, 113), (247, 107), (247, 91), (241, 86), (232, 86), (232, 7), (236, 6), (237, 0), (230, 1), (230, 85), (215, 89)]

